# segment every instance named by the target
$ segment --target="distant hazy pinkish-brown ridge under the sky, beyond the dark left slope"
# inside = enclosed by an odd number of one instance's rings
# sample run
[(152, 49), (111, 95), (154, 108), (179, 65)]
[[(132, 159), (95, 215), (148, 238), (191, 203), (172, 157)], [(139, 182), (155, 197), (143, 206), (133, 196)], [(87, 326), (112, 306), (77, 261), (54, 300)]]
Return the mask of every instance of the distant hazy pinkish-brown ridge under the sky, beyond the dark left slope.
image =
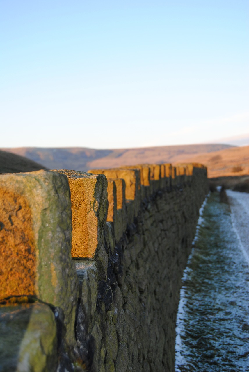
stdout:
[(187, 156), (213, 153), (233, 148), (223, 144), (177, 145), (118, 150), (95, 150), (83, 147), (67, 148), (2, 148), (1, 150), (21, 155), (43, 164), (48, 169), (74, 169), (87, 171), (93, 168), (119, 167), (138, 163), (175, 163)]

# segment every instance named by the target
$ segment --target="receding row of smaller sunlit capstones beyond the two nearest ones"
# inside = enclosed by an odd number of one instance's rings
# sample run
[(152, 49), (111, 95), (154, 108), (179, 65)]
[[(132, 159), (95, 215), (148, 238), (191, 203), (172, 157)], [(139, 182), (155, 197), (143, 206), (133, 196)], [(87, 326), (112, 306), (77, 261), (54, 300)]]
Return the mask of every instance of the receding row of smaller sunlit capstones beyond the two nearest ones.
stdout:
[[(118, 241), (137, 217), (141, 201), (153, 195), (160, 189), (183, 185), (190, 180), (194, 168), (202, 164), (138, 164), (113, 169), (91, 169), (92, 174), (104, 174), (108, 180), (108, 214), (107, 222), (112, 222), (115, 240)], [(86, 257), (91, 257), (86, 252)], [(94, 254), (94, 252), (92, 252)]]

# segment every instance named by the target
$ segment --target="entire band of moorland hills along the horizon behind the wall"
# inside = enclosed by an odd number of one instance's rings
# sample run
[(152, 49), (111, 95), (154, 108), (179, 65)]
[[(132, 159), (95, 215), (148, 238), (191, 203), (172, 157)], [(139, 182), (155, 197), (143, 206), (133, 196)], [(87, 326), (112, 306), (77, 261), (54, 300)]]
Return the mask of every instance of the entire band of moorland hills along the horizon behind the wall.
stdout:
[[(202, 163), (208, 177), (249, 176), (249, 146), (198, 144), (96, 150), (90, 148), (2, 148), (0, 173), (45, 169), (87, 171), (140, 163)], [(6, 152), (7, 151), (7, 152)], [(10, 154), (11, 153), (11, 154)], [(18, 155), (18, 156), (17, 156)], [(37, 164), (38, 163), (38, 164)], [(247, 177), (246, 177), (247, 178)]]

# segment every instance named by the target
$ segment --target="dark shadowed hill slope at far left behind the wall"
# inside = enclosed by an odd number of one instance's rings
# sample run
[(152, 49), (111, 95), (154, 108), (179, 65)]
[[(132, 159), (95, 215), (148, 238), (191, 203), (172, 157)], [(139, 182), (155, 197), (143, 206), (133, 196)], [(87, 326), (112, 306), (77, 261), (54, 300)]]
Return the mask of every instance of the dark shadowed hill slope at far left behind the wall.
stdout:
[(32, 172), (40, 169), (45, 167), (23, 156), (0, 151), (0, 173)]

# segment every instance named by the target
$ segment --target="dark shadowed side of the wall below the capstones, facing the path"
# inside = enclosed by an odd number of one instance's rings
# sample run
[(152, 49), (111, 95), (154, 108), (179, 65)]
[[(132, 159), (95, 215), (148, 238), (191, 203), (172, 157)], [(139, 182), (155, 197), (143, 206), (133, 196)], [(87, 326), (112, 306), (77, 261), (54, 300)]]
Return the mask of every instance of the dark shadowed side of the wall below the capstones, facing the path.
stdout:
[(82, 288), (76, 337), (89, 371), (174, 371), (181, 277), (208, 191), (205, 169), (182, 180), (175, 175), (177, 186), (144, 199), (119, 241), (106, 224), (106, 280), (96, 264), (76, 262)]

